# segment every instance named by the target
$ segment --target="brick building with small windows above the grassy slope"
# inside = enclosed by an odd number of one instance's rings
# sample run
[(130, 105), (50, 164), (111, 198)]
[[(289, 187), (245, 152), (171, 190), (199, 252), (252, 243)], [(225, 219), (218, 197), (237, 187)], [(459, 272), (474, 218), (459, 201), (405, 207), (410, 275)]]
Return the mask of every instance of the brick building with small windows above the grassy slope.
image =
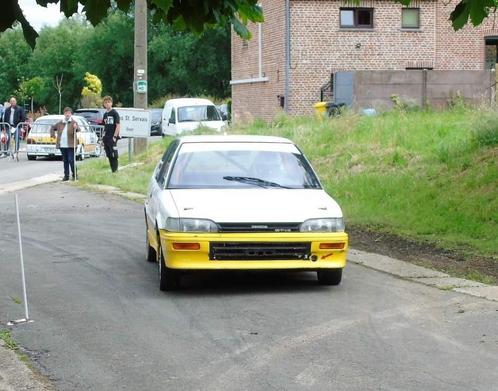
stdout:
[(498, 21), (454, 31), (457, 1), (261, 0), (253, 37), (232, 33), (234, 121), (313, 112), (331, 75), (355, 70), (483, 70), (495, 66)]

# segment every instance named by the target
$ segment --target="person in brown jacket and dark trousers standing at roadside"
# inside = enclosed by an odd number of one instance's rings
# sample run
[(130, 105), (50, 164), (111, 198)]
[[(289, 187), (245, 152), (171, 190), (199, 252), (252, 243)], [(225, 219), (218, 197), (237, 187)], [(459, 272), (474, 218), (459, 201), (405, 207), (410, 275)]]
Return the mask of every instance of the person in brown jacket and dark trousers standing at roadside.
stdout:
[[(76, 179), (74, 171), (74, 149), (77, 144), (76, 132), (79, 132), (78, 124), (73, 119), (73, 110), (70, 107), (64, 108), (64, 119), (57, 122), (50, 129), (50, 137), (57, 137), (56, 148), (61, 150), (62, 161), (64, 163), (63, 181), (69, 180), (69, 168)], [(57, 134), (56, 134), (57, 132)]]

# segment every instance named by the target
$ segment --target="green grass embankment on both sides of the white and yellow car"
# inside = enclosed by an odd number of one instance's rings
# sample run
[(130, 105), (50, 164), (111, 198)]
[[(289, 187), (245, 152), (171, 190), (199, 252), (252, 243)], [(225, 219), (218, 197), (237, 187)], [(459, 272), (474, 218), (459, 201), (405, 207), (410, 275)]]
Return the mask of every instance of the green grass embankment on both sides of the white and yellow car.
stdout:
[[(295, 141), (343, 208), (346, 224), (498, 260), (496, 112), (459, 108), (326, 120), (282, 117), (231, 133)], [(105, 160), (85, 162), (80, 182), (145, 194), (168, 142), (150, 145), (136, 159), (144, 165), (117, 175)]]

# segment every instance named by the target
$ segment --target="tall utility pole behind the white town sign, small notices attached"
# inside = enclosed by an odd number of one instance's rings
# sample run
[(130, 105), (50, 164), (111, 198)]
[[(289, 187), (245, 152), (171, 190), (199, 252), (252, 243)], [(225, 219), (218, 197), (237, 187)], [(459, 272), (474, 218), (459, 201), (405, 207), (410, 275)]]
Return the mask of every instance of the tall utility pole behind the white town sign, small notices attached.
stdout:
[[(147, 109), (147, 0), (135, 0), (133, 106)], [(147, 138), (134, 138), (134, 153), (147, 149)]]

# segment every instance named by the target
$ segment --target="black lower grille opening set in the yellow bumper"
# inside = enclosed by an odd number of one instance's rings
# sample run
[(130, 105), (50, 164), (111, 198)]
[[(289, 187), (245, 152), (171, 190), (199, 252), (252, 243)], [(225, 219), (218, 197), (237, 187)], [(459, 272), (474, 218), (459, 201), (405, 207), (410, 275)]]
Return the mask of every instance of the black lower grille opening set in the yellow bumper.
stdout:
[(309, 242), (211, 242), (209, 259), (212, 261), (283, 261), (307, 260)]

